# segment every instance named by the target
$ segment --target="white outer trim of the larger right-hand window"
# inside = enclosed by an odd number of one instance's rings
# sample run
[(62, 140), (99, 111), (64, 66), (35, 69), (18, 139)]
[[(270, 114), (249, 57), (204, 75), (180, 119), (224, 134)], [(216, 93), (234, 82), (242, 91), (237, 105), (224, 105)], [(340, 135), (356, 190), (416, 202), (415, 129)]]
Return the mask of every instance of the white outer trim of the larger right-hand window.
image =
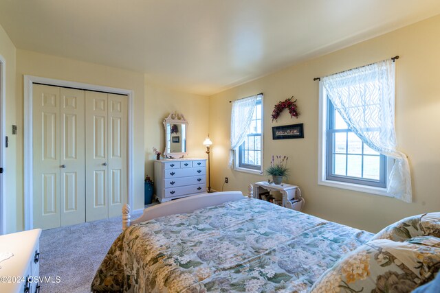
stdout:
[[(329, 187), (336, 187), (340, 189), (349, 189), (353, 191), (360, 191), (368, 194), (375, 194), (380, 196), (390, 196), (387, 192), (388, 180), (386, 185), (373, 186), (365, 185), (356, 182), (357, 180), (334, 180), (335, 178), (327, 177), (328, 157), (331, 150), (327, 148), (329, 145), (329, 100), (325, 92), (322, 82), (319, 83), (319, 125), (318, 125), (318, 185), (325, 185)], [(394, 160), (385, 157), (383, 164), (386, 167), (385, 178), (388, 179)]]

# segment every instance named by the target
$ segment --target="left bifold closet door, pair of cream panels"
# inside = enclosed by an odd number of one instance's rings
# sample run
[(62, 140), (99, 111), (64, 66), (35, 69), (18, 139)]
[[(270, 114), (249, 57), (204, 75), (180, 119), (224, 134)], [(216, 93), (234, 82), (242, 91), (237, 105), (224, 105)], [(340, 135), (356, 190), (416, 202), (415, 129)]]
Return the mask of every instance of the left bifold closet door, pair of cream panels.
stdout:
[(85, 221), (85, 92), (33, 86), (34, 226)]

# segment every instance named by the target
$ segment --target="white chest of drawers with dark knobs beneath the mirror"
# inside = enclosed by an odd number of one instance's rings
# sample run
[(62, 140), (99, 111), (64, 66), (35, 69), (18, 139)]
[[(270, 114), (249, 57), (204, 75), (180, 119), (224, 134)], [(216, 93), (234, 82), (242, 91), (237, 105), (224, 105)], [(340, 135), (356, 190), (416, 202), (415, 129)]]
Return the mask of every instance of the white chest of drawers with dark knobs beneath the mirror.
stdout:
[(206, 192), (206, 159), (154, 162), (155, 194), (160, 202)]

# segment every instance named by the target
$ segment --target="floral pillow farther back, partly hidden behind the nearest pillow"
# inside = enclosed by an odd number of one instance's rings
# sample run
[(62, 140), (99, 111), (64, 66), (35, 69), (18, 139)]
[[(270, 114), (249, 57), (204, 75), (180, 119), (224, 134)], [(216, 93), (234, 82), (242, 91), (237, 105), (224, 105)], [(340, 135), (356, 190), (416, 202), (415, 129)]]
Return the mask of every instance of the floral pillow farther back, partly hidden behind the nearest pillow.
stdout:
[(404, 218), (382, 229), (371, 238), (371, 241), (391, 239), (402, 242), (412, 237), (426, 235), (440, 237), (440, 213), (424, 213)]

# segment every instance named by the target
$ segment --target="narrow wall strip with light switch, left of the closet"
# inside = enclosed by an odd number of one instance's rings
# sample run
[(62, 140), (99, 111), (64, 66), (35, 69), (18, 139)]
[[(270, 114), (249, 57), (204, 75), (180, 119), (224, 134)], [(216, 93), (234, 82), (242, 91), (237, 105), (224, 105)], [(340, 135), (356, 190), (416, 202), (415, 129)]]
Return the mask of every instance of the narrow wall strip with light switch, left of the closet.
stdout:
[[(17, 205), (17, 181), (15, 180), (17, 174), (16, 157), (17, 157), (17, 139), (16, 135), (12, 135), (12, 125), (16, 124), (16, 104), (15, 104), (15, 60), (16, 49), (12, 44), (8, 34), (0, 26), (0, 56), (5, 61), (5, 128), (6, 135), (9, 137), (10, 146), (5, 149), (5, 162), (3, 162), (3, 168), (5, 173), (3, 174), (3, 180), (5, 182), (5, 207), (6, 207), (6, 233), (14, 232), (15, 226), (17, 226), (17, 217), (14, 213), (15, 209), (10, 207), (16, 207)], [(3, 139), (2, 139), (3, 140)], [(3, 141), (1, 141), (3, 143)]]

